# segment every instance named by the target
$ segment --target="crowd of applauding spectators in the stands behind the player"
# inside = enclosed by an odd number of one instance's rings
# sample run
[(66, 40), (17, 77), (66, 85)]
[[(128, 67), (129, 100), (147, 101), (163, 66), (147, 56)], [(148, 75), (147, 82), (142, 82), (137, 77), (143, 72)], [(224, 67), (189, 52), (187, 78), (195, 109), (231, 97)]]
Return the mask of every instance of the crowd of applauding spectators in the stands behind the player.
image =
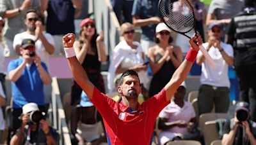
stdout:
[[(121, 25), (122, 40), (109, 54), (108, 82), (104, 82), (100, 66), (102, 62), (108, 61), (106, 52), (112, 48), (106, 47), (108, 45), (103, 41), (104, 32), (97, 32), (96, 22), (92, 17), (81, 21), (79, 37), (74, 42), (76, 57), (88, 79), (101, 93), (117, 92), (120, 82), (115, 80), (119, 80), (118, 77), (123, 72), (133, 70), (138, 73), (140, 86), (143, 88), (141, 92), (143, 99), (140, 100), (142, 104), (143, 101), (159, 93), (179, 68), (184, 53), (187, 53), (191, 46), (189, 40), (187, 41), (188, 38), (175, 34), (163, 23), (158, 15), (158, 2), (159, 0), (111, 0)], [(237, 107), (245, 108), (250, 119), (237, 121), (235, 118), (235, 122), (228, 122), (229, 124), (225, 126), (223, 143), (230, 142), (230, 139), (238, 141), (241, 137), (235, 137), (234, 132), (237, 130), (242, 132), (244, 128), (248, 135), (246, 143), (253, 144), (256, 136), (255, 132), (250, 132), (250, 127), (254, 125), (253, 121), (256, 121), (254, 69), (256, 36), (253, 35), (256, 34), (253, 32), (256, 24), (254, 23), (256, 2), (253, 0), (190, 0), (189, 2), (195, 12), (196, 29), (206, 42), (203, 46), (216, 64), (216, 68), (212, 69), (204, 59), (204, 55), (198, 53), (196, 64), (202, 65), (198, 90), (198, 114), (211, 113), (212, 108), (215, 108), (216, 113), (228, 112), (230, 107), (228, 67), (234, 67), (241, 90), (239, 100), (248, 103), (239, 104)], [(6, 74), (3, 72), (4, 57), (19, 56), (19, 59), (10, 61), (7, 72), (12, 84), (13, 120), (9, 138), (11, 144), (57, 142), (52, 139), (54, 129), (52, 131), (45, 121), (52, 92), (48, 70), (49, 57), (64, 55), (63, 35), (75, 33), (74, 20), (81, 14), (81, 9), (82, 0), (0, 0), (0, 106), (5, 106), (7, 97), (4, 84)], [(136, 27), (141, 28), (140, 42), (135, 39)], [(189, 35), (192, 36), (194, 33), (191, 31)], [(105, 88), (104, 83), (108, 84), (108, 88)], [(180, 86), (172, 102), (159, 114), (158, 127), (163, 130), (159, 135), (160, 144), (177, 139), (192, 139), (186, 137), (189, 133), (187, 128), (191, 129), (190, 126), (193, 126), (192, 130), (195, 131), (198, 120), (190, 102), (186, 102), (184, 92), (186, 87)], [(70, 95), (70, 105), (74, 106), (70, 129), (74, 135), (73, 143), (106, 142), (105, 130), (102, 134), (97, 134), (98, 122), (104, 127), (102, 118), (75, 80), (70, 88)], [(122, 98), (119, 96), (118, 99), (120, 103)], [(31, 102), (35, 104), (30, 104)], [(26, 109), (27, 105), (31, 110)], [(29, 123), (29, 113), (35, 111), (44, 114), (42, 120)], [(236, 109), (235, 116), (237, 111), (239, 109)], [(179, 118), (184, 113), (189, 113), (189, 118), (185, 118), (186, 120)], [(4, 116), (4, 111), (0, 107), (0, 136), (5, 128)], [(97, 131), (94, 128), (97, 128)], [(31, 132), (37, 132), (40, 137), (31, 135)], [(192, 133), (198, 135), (198, 132)], [(31, 138), (27, 137), (29, 135)], [(202, 140), (198, 136), (193, 139)], [(3, 140), (0, 139), (0, 143)]]

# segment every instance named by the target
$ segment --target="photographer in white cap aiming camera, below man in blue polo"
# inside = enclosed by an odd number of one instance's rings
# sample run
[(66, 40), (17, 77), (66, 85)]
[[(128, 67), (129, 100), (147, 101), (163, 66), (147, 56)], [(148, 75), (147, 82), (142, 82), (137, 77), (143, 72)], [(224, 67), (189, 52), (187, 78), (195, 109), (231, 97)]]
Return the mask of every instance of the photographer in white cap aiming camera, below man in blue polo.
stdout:
[(31, 102), (22, 107), (20, 119), (22, 123), (16, 134), (13, 135), (10, 144), (56, 144), (46, 120), (42, 120), (44, 114), (38, 106)]

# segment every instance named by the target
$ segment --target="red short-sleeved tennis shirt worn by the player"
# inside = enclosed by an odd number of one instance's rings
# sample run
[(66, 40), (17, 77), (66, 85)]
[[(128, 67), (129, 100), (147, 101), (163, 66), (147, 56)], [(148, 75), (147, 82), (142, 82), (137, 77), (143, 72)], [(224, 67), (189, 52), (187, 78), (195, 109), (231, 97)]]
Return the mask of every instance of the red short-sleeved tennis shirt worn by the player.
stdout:
[(115, 100), (93, 90), (92, 102), (102, 115), (108, 144), (150, 144), (154, 131), (154, 123), (160, 111), (170, 103), (166, 101), (166, 91), (163, 89), (157, 95), (138, 104), (137, 111), (128, 113), (128, 107), (118, 104)]

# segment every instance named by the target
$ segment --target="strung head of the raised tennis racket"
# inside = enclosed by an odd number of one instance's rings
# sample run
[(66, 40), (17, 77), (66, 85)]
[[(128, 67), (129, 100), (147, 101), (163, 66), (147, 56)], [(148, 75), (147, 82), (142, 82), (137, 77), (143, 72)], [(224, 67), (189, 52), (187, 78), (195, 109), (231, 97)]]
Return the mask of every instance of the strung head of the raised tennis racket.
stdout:
[(188, 32), (194, 27), (194, 15), (188, 1), (162, 0), (159, 13), (164, 22), (177, 32)]

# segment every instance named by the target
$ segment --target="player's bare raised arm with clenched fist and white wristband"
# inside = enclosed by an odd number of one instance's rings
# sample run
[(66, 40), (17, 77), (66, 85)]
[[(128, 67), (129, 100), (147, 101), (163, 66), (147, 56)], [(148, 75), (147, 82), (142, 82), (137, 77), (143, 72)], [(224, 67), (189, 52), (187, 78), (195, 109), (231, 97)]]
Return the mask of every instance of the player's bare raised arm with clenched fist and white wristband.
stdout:
[(72, 33), (68, 33), (63, 36), (63, 46), (68, 60), (68, 66), (77, 84), (84, 90), (86, 95), (92, 99), (93, 89), (95, 86), (89, 81), (84, 68), (76, 58), (76, 53), (73, 48), (75, 40), (76, 37)]

